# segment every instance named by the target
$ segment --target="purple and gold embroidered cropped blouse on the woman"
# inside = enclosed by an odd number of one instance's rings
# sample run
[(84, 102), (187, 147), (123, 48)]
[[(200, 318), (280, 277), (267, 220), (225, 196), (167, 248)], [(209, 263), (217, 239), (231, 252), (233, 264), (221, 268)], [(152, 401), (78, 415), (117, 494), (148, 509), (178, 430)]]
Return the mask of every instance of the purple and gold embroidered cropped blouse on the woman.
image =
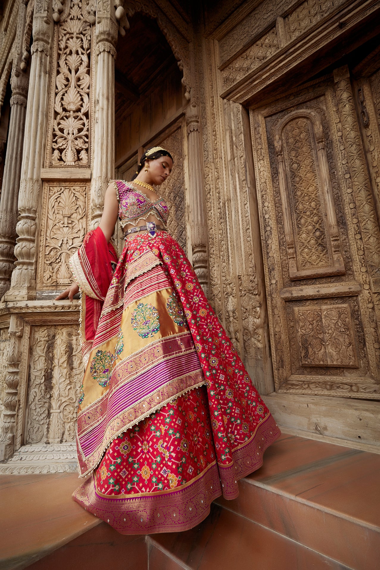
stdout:
[(166, 227), (169, 210), (165, 200), (161, 197), (154, 202), (148, 198), (136, 186), (124, 182), (124, 180), (111, 180), (116, 188), (117, 201), (119, 202), (119, 219), (123, 229), (127, 223), (136, 225), (142, 219), (147, 219), (150, 214)]

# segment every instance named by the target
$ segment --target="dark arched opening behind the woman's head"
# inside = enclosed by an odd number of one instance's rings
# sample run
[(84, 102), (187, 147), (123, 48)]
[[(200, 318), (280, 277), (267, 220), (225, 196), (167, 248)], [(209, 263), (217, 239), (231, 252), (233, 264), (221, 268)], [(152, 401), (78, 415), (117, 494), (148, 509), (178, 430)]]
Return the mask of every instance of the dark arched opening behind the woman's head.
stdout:
[[(171, 235), (188, 254), (187, 105), (182, 74), (156, 20), (135, 13), (115, 62), (115, 166), (117, 178), (129, 181), (144, 149), (162, 145), (174, 168), (160, 193), (170, 208)], [(122, 245), (119, 232), (119, 245)]]

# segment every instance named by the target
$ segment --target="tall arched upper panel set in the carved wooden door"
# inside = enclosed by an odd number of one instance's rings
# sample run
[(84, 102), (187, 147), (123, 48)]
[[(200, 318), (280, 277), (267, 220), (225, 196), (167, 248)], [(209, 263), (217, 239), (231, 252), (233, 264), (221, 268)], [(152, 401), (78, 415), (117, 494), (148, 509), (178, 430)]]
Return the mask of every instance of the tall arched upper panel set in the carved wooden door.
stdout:
[(296, 109), (271, 132), (290, 279), (344, 273), (320, 113)]

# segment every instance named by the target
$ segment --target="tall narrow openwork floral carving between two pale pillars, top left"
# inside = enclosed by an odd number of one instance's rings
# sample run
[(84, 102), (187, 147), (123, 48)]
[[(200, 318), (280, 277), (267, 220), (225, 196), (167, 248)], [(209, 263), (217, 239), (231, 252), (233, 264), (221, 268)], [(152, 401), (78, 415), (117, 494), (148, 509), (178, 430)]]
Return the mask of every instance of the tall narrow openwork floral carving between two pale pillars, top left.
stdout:
[(70, 0), (67, 18), (58, 26), (53, 166), (87, 166), (89, 162), (91, 25), (84, 11), (81, 0)]

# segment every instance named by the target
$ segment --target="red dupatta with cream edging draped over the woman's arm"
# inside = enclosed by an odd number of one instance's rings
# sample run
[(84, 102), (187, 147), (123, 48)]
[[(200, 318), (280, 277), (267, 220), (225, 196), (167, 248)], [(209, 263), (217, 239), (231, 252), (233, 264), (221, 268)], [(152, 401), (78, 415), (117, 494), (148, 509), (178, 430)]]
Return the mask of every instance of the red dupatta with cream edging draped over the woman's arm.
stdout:
[(80, 249), (70, 259), (73, 277), (81, 291), (80, 332), (85, 364), (117, 261), (115, 247), (107, 243), (100, 227), (85, 235)]

